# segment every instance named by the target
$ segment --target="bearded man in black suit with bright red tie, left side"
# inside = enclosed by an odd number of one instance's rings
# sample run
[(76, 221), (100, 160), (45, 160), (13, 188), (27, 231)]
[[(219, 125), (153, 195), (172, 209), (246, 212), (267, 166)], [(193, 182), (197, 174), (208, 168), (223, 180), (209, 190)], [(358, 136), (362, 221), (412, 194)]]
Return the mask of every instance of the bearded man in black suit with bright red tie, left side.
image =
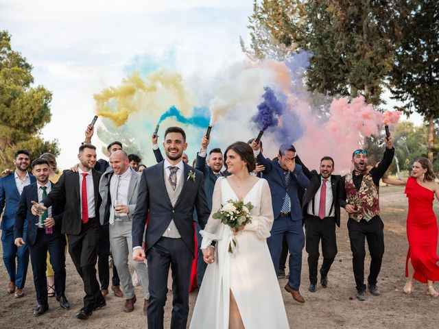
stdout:
[(96, 278), (97, 241), (99, 240), (99, 179), (102, 173), (93, 168), (96, 164), (96, 147), (80, 146), (78, 173), (66, 170), (51, 193), (40, 203), (34, 203), (32, 213), (41, 215), (49, 206), (65, 198), (62, 233), (67, 234), (69, 254), (84, 282), (84, 307), (75, 317), (87, 319), (93, 310), (106, 306)]

